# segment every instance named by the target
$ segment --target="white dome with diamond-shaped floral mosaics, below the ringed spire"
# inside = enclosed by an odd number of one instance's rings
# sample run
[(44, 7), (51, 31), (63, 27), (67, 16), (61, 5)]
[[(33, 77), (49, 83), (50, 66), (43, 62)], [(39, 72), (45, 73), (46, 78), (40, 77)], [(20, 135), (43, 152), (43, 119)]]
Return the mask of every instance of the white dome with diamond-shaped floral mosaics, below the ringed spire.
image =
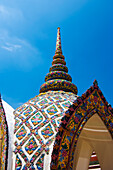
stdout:
[(75, 99), (71, 92), (48, 91), (15, 110), (14, 169), (44, 168), (44, 157), (51, 159), (60, 120)]

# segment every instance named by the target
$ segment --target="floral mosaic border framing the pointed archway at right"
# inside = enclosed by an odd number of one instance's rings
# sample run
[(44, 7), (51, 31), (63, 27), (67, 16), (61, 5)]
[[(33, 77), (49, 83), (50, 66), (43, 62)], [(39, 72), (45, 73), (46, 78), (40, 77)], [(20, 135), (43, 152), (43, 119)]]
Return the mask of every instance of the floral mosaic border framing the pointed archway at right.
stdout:
[(62, 118), (52, 153), (52, 170), (73, 168), (78, 137), (85, 123), (95, 113), (103, 120), (113, 138), (113, 108), (104, 98), (96, 80), (86, 93), (73, 102)]

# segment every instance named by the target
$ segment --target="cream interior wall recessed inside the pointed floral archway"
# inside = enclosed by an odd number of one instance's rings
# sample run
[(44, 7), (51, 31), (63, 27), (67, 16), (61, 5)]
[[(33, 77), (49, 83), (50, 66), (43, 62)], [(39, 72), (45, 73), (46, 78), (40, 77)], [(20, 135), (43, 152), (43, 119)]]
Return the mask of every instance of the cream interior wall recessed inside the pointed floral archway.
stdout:
[(113, 169), (113, 140), (102, 119), (95, 113), (83, 127), (74, 153), (73, 170), (88, 170), (92, 151), (102, 170)]

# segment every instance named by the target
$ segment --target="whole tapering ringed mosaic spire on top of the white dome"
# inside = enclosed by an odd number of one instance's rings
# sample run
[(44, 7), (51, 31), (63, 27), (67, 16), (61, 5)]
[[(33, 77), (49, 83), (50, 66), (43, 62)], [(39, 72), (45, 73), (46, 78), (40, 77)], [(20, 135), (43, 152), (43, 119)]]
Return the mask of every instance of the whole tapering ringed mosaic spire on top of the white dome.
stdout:
[(62, 55), (60, 28), (57, 28), (56, 51), (53, 56), (52, 66), (45, 77), (45, 83), (40, 87), (40, 93), (49, 90), (63, 90), (77, 94), (77, 87), (72, 83), (72, 78), (68, 74), (65, 57)]

